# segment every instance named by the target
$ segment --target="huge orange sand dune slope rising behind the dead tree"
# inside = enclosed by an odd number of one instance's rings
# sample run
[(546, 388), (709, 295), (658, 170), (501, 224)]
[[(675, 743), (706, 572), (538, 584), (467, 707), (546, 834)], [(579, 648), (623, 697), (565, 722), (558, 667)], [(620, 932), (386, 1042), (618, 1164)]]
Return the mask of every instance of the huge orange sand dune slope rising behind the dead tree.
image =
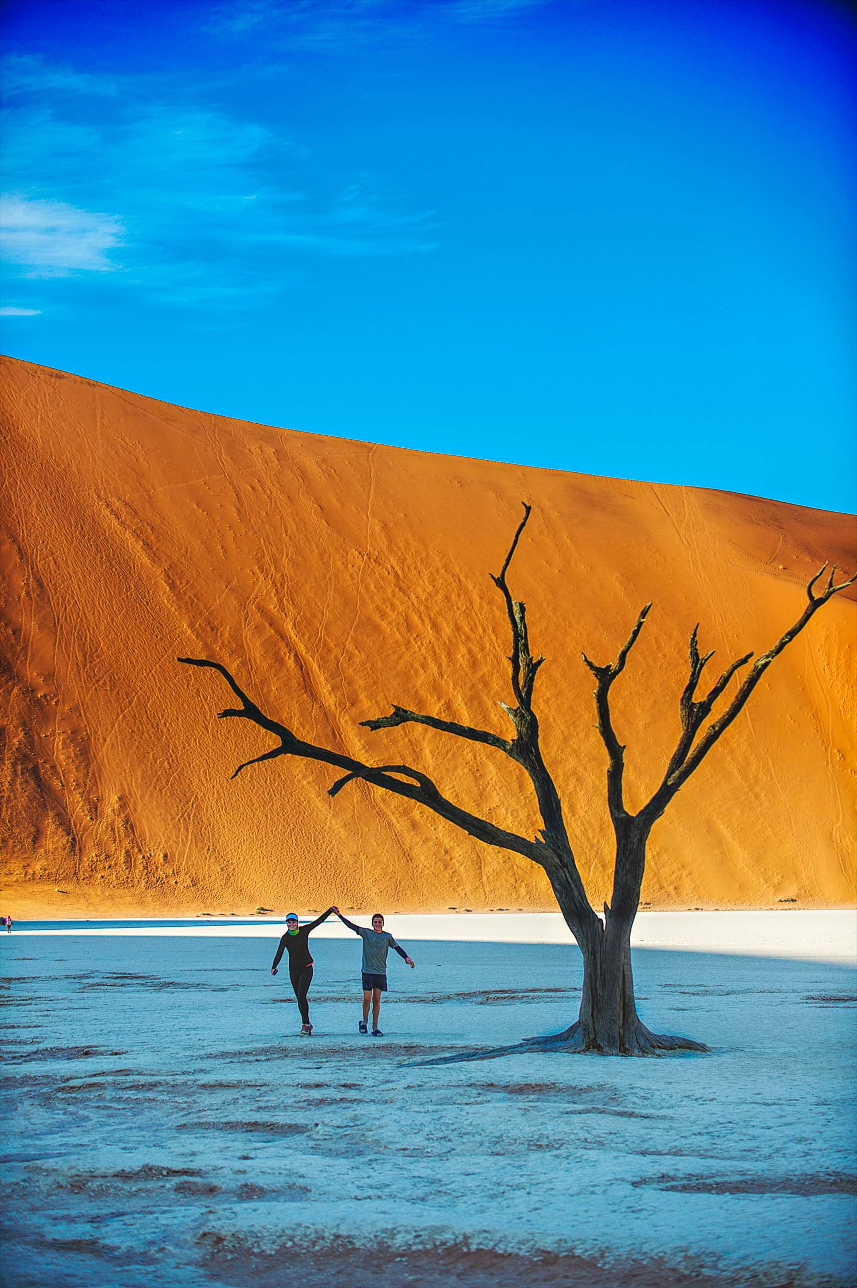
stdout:
[[(542, 873), (409, 801), (278, 760), (217, 721), (228, 666), (299, 735), (421, 768), (501, 827), (539, 827), (522, 770), (398, 703), (501, 734), (511, 701), (497, 573), (528, 605), (544, 757), (596, 907), (610, 889), (592, 676), (643, 603), (614, 687), (632, 809), (678, 732), (687, 639), (712, 668), (763, 652), (853, 520), (757, 497), (592, 478), (272, 429), (4, 361), (3, 716), (6, 890), (31, 911), (548, 908)], [(854, 590), (772, 666), (656, 824), (643, 900), (854, 900)], [(67, 891), (54, 895), (59, 886)], [(76, 900), (76, 903), (75, 903)]]

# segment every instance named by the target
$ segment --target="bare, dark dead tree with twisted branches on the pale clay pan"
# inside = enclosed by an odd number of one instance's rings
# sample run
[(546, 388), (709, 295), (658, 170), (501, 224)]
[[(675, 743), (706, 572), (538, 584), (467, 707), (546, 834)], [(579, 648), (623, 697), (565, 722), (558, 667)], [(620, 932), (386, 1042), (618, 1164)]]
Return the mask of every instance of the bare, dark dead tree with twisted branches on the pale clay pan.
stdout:
[(826, 572), (827, 564), (815, 574), (807, 586), (807, 607), (798, 621), (784, 631), (773, 648), (753, 662), (732, 699), (699, 738), (697, 734), (712, 714), (718, 698), (723, 696), (736, 672), (750, 662), (753, 653), (746, 653), (744, 657), (731, 662), (708, 693), (697, 697), (703, 671), (713, 657), (713, 650), (700, 653), (697, 643), (699, 625), (694, 627), (690, 638), (688, 677), (679, 699), (681, 734), (660, 786), (636, 814), (632, 814), (625, 806), (623, 790), (625, 747), (619, 742), (613, 726), (610, 690), (614, 681), (624, 670), (628, 654), (642, 631), (651, 604), (646, 604), (641, 611), (631, 635), (619, 649), (615, 662), (600, 666), (592, 662), (585, 653), (583, 654), (583, 661), (596, 677), (594, 701), (598, 716), (598, 732), (607, 750), (609, 761), (607, 808), (616, 841), (613, 895), (610, 903), (604, 905), (604, 918), (601, 918), (594, 912), (584, 891), (562, 818), (560, 793), (544, 764), (539, 747), (539, 723), (533, 707), (533, 689), (544, 658), (542, 656), (533, 657), (530, 652), (525, 605), (520, 600), (512, 599), (506, 580), (508, 567), (529, 516), (530, 506), (525, 505), (524, 518), (517, 527), (499, 576), (492, 577), (506, 603), (506, 612), (512, 631), (510, 663), (515, 703), (513, 706), (507, 706), (502, 702), (501, 706), (512, 723), (513, 735), (511, 738), (502, 738), (486, 729), (475, 729), (471, 725), (456, 724), (452, 720), (440, 720), (438, 716), (421, 715), (398, 706), (394, 706), (391, 714), (387, 716), (362, 723), (373, 730), (391, 729), (403, 724), (427, 725), (430, 729), (439, 729), (456, 738), (484, 743), (486, 747), (493, 747), (495, 751), (501, 751), (511, 760), (515, 760), (526, 770), (530, 778), (542, 817), (542, 829), (533, 840), (528, 840), (528, 837), (519, 836), (515, 832), (507, 832), (494, 823), (489, 823), (486, 819), (456, 805), (440, 792), (426, 774), (410, 768), (410, 765), (364, 765), (359, 760), (353, 760), (350, 756), (341, 756), (327, 747), (317, 747), (314, 743), (304, 742), (286, 725), (264, 715), (220, 662), (190, 657), (183, 657), (179, 661), (187, 662), (189, 666), (212, 667), (229, 684), (241, 706), (221, 711), (219, 719), (237, 717), (250, 720), (278, 739), (277, 746), (272, 747), (270, 751), (265, 751), (261, 756), (256, 756), (253, 760), (239, 765), (233, 778), (248, 765), (256, 765), (264, 760), (275, 760), (278, 756), (302, 756), (306, 760), (319, 760), (326, 765), (332, 765), (344, 772), (344, 775), (329, 788), (331, 796), (336, 796), (349, 783), (362, 778), (373, 787), (380, 787), (396, 796), (404, 796), (410, 801), (416, 801), (434, 814), (445, 818), (449, 823), (454, 823), (456, 827), (459, 827), (470, 836), (475, 836), (479, 841), (521, 854), (544, 869), (566, 925), (576, 939), (583, 954), (583, 988), (580, 1012), (574, 1024), (562, 1033), (553, 1034), (549, 1038), (533, 1039), (534, 1042), (556, 1045), (562, 1050), (573, 1052), (601, 1051), (606, 1055), (652, 1055), (661, 1051), (678, 1050), (704, 1051), (706, 1047), (700, 1042), (652, 1033), (637, 1015), (631, 970), (631, 927), (640, 904), (649, 836), (676, 793), (687, 782), (690, 775), (699, 769), (714, 743), (745, 706), (775, 657), (800, 634), (822, 604), (826, 604), (833, 595), (844, 590), (845, 586), (851, 586), (853, 581), (857, 581), (857, 576), (835, 583), (836, 568), (834, 565), (826, 582), (822, 583), (822, 589), (816, 592), (816, 586)]

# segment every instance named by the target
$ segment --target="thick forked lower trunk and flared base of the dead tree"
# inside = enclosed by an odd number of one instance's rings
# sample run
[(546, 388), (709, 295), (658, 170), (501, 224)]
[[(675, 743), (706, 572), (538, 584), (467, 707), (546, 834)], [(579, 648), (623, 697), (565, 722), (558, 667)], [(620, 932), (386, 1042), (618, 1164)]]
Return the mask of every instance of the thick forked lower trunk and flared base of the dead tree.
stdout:
[(565, 882), (552, 878), (566, 925), (583, 954), (583, 989), (575, 1023), (549, 1038), (533, 1039), (537, 1045), (561, 1043), (569, 1051), (600, 1051), (604, 1055), (708, 1050), (690, 1038), (652, 1033), (637, 1015), (631, 927), (640, 902), (647, 835), (632, 827), (619, 832), (613, 909), (605, 904), (604, 922), (594, 914), (582, 922), (569, 904)]

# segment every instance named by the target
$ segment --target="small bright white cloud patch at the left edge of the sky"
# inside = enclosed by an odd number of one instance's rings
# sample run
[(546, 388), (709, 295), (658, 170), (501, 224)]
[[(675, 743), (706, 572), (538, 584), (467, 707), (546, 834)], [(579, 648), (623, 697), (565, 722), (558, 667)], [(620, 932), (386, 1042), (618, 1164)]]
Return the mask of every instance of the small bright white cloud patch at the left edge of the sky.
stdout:
[(64, 201), (32, 201), (18, 193), (0, 198), (4, 258), (27, 277), (116, 272), (121, 265), (111, 251), (122, 245), (122, 233), (116, 216)]

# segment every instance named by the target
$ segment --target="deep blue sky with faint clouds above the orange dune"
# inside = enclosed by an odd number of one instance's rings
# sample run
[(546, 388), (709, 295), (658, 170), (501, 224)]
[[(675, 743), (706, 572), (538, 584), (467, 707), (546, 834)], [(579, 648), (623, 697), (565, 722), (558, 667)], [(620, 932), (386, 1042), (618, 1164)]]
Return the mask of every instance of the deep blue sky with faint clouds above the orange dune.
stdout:
[(854, 510), (853, 54), (824, 0), (9, 0), (3, 349)]

